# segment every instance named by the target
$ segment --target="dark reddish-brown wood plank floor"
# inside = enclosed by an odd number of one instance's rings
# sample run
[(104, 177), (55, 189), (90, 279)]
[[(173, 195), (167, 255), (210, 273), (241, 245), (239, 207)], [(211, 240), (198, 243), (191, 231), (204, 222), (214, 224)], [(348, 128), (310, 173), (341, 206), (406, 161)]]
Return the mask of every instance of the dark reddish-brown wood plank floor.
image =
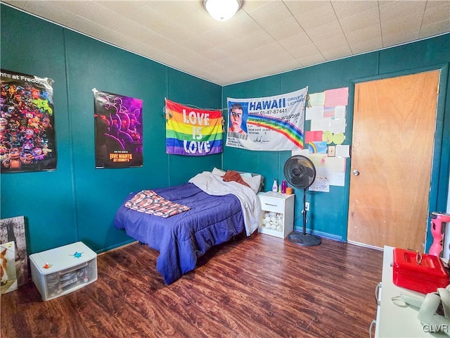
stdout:
[(208, 251), (165, 285), (158, 252), (98, 256), (98, 280), (51, 301), (30, 282), (1, 296), (1, 337), (368, 337), (383, 252), (265, 234)]

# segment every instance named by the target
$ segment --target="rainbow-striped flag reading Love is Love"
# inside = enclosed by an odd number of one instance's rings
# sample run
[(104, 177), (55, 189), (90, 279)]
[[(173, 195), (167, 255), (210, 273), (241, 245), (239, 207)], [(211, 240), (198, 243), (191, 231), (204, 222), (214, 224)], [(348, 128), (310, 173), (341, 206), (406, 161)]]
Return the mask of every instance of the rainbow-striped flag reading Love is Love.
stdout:
[(166, 101), (166, 152), (186, 156), (221, 153), (222, 113)]

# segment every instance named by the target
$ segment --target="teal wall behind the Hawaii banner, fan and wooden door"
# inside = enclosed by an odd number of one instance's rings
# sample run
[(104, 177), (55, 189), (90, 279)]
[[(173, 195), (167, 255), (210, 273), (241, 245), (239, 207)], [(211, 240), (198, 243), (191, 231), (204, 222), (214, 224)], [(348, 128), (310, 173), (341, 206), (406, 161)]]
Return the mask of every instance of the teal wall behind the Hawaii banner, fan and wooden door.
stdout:
[[(293, 70), (271, 77), (232, 84), (224, 87), (222, 105), (226, 98), (248, 98), (273, 96), (309, 87), (310, 93), (326, 89), (349, 87), (347, 106), (347, 128), (344, 144), (352, 144), (352, 115), (354, 84), (366, 80), (418, 73), (424, 70), (440, 69), (441, 91), (437, 111), (435, 149), (433, 156), (432, 182), (430, 192), (430, 211), (445, 211), (446, 196), (449, 191), (450, 154), (450, 99), (449, 75), (450, 35), (442, 35), (420, 42), (397, 46), (338, 61), (323, 63), (309, 68)], [(308, 130), (309, 123), (305, 124)], [(376, 146), (376, 145), (374, 145)], [(418, 141), (420, 146), (420, 141)], [(226, 147), (224, 150), (224, 169), (236, 168), (262, 173), (266, 177), (266, 190), (270, 190), (274, 178), (283, 180), (283, 167), (290, 157), (290, 151), (247, 151)], [(309, 231), (347, 240), (347, 215), (349, 204), (349, 168), (351, 158), (347, 159), (345, 187), (330, 187), (330, 192), (307, 192), (310, 211), (307, 213)], [(389, 187), (386, 187), (389, 189)], [(302, 190), (297, 190), (295, 201), (295, 227), (302, 229)], [(395, 206), (392, 206), (393, 208)], [(311, 227), (310, 227), (311, 225)], [(427, 243), (430, 246), (431, 237)]]

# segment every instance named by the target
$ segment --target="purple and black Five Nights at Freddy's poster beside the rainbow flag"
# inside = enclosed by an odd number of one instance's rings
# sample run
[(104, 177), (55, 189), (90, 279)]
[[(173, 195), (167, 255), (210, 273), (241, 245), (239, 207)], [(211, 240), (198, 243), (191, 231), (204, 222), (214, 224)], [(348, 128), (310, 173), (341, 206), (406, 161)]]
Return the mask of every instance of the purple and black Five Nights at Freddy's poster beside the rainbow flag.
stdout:
[(94, 92), (96, 168), (143, 165), (142, 100)]

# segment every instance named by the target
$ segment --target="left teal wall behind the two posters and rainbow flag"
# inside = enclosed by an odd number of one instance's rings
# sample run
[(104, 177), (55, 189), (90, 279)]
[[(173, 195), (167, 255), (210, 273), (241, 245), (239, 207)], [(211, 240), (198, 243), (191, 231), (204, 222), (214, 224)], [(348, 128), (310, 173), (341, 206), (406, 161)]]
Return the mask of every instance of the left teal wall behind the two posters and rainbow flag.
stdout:
[[(165, 98), (220, 108), (221, 87), (1, 5), (1, 68), (54, 80), (58, 166), (1, 174), (1, 218), (25, 215), (29, 253), (83, 241), (97, 252), (132, 242), (113, 227), (129, 192), (186, 182), (221, 155), (165, 153)], [(143, 167), (96, 169), (93, 88), (143, 100)]]

